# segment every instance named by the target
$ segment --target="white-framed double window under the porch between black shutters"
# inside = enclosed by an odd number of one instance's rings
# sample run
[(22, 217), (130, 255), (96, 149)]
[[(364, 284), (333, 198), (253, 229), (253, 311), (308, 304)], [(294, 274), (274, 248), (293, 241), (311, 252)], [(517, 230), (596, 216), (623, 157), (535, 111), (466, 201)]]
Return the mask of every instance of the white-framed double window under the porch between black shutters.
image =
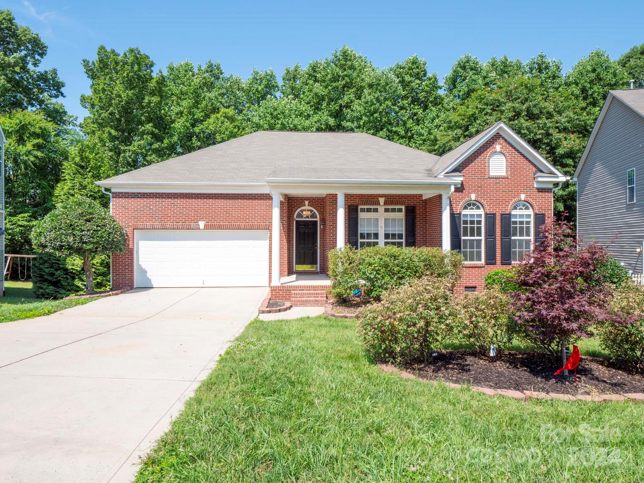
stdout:
[(404, 245), (402, 206), (361, 206), (358, 209), (358, 247)]

